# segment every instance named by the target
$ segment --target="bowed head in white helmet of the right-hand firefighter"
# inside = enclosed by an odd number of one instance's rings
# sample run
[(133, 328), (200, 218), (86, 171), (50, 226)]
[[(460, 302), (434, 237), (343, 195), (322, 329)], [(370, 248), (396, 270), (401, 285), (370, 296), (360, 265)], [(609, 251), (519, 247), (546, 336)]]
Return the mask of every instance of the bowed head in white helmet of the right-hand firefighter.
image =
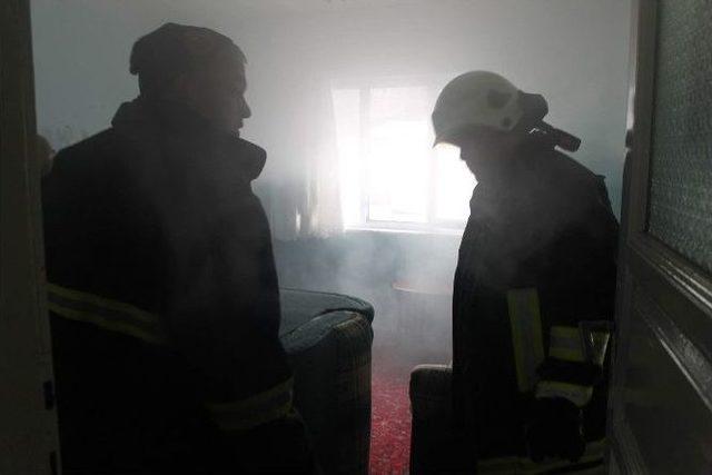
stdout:
[(494, 72), (466, 72), (447, 83), (437, 98), (435, 142), (459, 147), (469, 170), (478, 181), (486, 181), (505, 172), (516, 158), (531, 131), (526, 123), (532, 115), (543, 118), (545, 113), (541, 96), (524, 93)]

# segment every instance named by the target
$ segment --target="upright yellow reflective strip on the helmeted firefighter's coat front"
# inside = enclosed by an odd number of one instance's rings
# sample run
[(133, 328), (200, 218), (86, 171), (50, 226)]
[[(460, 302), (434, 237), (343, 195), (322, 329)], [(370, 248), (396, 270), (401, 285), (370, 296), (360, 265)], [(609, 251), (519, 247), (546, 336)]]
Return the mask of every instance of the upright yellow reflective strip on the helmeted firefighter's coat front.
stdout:
[(507, 291), (512, 345), (520, 392), (527, 393), (536, 384), (536, 368), (544, 360), (542, 317), (535, 288)]

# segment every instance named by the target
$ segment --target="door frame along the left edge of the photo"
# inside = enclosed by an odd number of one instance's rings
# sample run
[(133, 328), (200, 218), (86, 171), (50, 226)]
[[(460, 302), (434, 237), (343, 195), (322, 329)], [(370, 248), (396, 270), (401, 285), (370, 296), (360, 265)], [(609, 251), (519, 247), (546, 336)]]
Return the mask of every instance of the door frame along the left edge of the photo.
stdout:
[(58, 474), (30, 0), (0, 1), (0, 474)]

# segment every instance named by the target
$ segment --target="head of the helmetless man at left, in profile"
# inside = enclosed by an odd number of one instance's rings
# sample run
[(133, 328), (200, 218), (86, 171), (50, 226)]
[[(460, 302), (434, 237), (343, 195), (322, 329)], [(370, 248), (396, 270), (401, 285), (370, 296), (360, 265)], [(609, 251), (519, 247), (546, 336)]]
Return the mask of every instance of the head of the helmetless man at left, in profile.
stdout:
[(131, 50), (141, 96), (180, 102), (215, 127), (238, 132), (251, 111), (245, 100), (246, 58), (226, 36), (166, 23)]

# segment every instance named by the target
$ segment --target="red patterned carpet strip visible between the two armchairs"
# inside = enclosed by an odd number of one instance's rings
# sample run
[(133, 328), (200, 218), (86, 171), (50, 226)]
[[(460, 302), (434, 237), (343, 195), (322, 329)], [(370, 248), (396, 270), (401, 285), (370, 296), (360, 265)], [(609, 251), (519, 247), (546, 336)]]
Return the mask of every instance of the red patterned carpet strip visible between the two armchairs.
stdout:
[(375, 362), (372, 380), (370, 474), (408, 473), (411, 403), (408, 370), (380, 368)]

